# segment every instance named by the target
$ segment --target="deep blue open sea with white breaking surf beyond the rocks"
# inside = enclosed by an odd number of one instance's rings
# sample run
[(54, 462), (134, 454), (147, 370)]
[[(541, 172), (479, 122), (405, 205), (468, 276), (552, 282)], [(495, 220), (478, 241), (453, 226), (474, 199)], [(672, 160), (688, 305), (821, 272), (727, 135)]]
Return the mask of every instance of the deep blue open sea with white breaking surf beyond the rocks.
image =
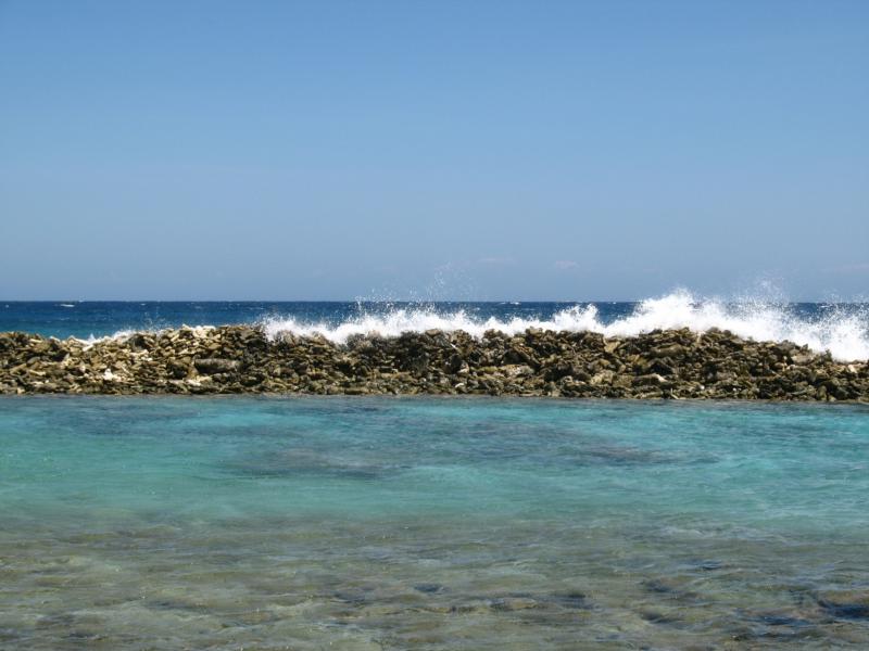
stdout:
[[(594, 332), (604, 336), (688, 328), (729, 330), (746, 340), (791, 341), (835, 359), (869, 359), (869, 305), (794, 304), (748, 295), (704, 298), (681, 290), (639, 303), (77, 303), (75, 309), (14, 303), (0, 311), (0, 331), (60, 339), (92, 346), (137, 332), (162, 332), (184, 323), (197, 328), (247, 324), (275, 340), (280, 333), (320, 334), (332, 343), (353, 335), (398, 336), (441, 330), (480, 339), (488, 330), (514, 335), (528, 328)], [(108, 337), (108, 340), (106, 340)]]

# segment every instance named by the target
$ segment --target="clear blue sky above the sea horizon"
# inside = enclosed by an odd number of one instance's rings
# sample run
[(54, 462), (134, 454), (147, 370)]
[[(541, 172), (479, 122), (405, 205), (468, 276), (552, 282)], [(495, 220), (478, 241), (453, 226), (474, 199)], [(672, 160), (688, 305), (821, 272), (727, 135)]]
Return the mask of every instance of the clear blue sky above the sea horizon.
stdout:
[(0, 0), (0, 298), (869, 296), (869, 2)]

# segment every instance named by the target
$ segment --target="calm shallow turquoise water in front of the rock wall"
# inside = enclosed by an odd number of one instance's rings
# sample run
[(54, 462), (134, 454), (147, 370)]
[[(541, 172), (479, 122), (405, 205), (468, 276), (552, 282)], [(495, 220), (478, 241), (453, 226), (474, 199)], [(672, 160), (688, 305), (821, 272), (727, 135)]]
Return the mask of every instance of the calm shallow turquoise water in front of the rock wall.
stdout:
[(0, 399), (0, 648), (869, 646), (869, 409)]

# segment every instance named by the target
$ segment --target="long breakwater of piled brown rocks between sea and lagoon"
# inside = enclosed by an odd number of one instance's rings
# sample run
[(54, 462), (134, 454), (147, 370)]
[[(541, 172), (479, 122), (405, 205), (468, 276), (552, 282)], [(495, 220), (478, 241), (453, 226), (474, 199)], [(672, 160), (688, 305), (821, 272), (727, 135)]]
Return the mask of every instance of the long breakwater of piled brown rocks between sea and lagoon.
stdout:
[(482, 394), (869, 401), (869, 362), (727, 331), (605, 339), (529, 329), (396, 337), (187, 328), (106, 339), (0, 333), (2, 394)]

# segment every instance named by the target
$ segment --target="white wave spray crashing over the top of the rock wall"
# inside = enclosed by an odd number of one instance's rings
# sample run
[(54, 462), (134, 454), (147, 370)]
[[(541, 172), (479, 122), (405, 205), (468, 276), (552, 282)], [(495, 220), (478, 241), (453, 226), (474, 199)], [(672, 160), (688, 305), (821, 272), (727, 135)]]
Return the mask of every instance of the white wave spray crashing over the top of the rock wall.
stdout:
[(266, 334), (276, 337), (281, 332), (297, 335), (320, 334), (336, 343), (344, 343), (356, 334), (396, 336), (404, 332), (425, 330), (463, 330), (481, 336), (487, 330), (506, 334), (528, 328), (570, 332), (600, 332), (605, 336), (634, 336), (652, 330), (689, 328), (705, 332), (711, 328), (730, 330), (755, 341), (791, 341), (817, 352), (829, 350), (836, 359), (851, 361), (869, 359), (869, 314), (866, 308), (831, 308), (814, 318), (801, 318), (785, 304), (765, 301), (736, 303), (701, 299), (687, 291), (659, 298), (648, 298), (634, 310), (612, 322), (604, 322), (594, 305), (574, 306), (553, 315), (551, 319), (515, 317), (508, 320), (479, 319), (458, 309), (444, 312), (433, 307), (400, 307), (386, 314), (363, 315), (338, 324), (310, 323), (293, 318), (269, 318), (263, 321)]

